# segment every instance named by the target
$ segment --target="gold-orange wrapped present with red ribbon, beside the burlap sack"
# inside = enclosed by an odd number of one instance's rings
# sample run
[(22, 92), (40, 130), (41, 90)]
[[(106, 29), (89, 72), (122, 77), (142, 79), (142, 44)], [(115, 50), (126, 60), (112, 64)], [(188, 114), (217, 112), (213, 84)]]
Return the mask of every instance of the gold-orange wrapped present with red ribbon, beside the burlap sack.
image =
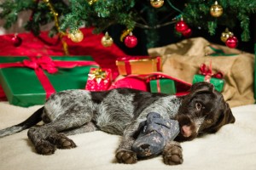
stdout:
[(117, 59), (116, 65), (123, 76), (161, 71), (160, 57), (124, 57)]

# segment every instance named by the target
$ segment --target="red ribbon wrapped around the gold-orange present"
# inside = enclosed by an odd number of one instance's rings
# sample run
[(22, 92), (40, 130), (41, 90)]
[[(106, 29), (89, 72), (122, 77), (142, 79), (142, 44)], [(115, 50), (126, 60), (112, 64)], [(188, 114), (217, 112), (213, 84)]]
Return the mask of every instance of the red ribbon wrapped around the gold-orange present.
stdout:
[(156, 58), (148, 58), (148, 57), (123, 57), (123, 58), (119, 58), (119, 61), (124, 61), (125, 62), (125, 71), (127, 75), (131, 74), (131, 60), (152, 60), (152, 59), (156, 59), (156, 69), (157, 71), (160, 71), (160, 57), (156, 57)]

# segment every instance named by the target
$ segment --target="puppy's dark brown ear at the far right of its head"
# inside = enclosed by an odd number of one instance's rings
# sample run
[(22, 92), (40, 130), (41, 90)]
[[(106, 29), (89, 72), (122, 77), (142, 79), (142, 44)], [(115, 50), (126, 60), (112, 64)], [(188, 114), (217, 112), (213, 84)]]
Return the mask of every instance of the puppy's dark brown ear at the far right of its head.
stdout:
[(230, 105), (228, 103), (225, 103), (224, 107), (224, 111), (219, 116), (218, 122), (215, 124), (214, 127), (212, 127), (212, 133), (217, 132), (220, 129), (220, 127), (223, 127), (226, 124), (236, 122), (236, 118), (232, 114)]

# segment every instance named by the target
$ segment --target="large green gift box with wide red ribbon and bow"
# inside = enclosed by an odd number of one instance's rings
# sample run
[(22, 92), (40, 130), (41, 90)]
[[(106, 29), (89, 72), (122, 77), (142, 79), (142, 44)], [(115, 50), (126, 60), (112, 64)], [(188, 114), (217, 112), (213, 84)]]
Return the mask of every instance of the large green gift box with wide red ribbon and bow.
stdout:
[[(50, 93), (84, 89), (90, 68), (98, 67), (90, 56), (37, 59), (0, 57), (0, 83), (10, 104), (23, 107), (43, 105)], [(35, 64), (37, 62), (39, 64)], [(41, 74), (41, 78), (38, 78), (38, 74)]]

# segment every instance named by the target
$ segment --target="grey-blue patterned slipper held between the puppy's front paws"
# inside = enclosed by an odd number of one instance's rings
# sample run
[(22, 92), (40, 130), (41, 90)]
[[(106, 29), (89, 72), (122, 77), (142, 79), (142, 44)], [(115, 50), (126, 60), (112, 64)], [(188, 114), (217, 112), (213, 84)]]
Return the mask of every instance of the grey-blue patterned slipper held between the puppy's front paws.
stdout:
[(138, 131), (139, 134), (131, 150), (137, 153), (137, 157), (147, 158), (158, 156), (164, 149), (166, 141), (177, 137), (179, 125), (175, 120), (166, 120), (160, 114), (150, 112), (147, 120), (139, 125)]

